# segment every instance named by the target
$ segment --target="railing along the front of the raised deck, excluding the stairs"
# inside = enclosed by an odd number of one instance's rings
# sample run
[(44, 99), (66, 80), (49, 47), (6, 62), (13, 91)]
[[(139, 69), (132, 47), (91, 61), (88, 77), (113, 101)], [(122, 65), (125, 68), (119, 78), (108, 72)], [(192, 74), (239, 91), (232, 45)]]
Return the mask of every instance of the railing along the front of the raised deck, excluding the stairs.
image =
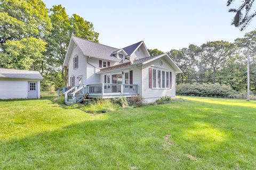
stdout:
[[(88, 88), (89, 87), (89, 88)], [(137, 84), (89, 84), (87, 86), (89, 95), (134, 95), (138, 94)]]

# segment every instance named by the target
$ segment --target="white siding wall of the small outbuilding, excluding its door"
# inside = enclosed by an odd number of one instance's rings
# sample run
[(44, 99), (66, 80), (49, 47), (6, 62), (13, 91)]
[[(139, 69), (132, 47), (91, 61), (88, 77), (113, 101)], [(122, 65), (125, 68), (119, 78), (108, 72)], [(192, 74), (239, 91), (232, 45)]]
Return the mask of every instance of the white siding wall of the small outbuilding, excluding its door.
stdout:
[(40, 98), (39, 80), (0, 78), (0, 99), (28, 98), (29, 81), (37, 82), (37, 97)]

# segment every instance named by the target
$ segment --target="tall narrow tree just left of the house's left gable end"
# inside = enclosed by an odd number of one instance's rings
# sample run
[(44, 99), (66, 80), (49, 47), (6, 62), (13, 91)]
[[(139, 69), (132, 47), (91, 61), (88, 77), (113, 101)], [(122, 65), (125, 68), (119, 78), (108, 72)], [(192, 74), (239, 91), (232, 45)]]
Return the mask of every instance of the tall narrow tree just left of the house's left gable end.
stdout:
[[(61, 72), (64, 84), (68, 82), (68, 68), (63, 67), (66, 52), (70, 37), (72, 35), (70, 19), (66, 13), (65, 7), (61, 5), (53, 6), (50, 9), (50, 18), (52, 23), (51, 35), (46, 38), (47, 52), (45, 55), (47, 65), (47, 78), (50, 78), (50, 73)], [(56, 80), (56, 79), (53, 79)], [(59, 79), (58, 79), (59, 81)], [(55, 84), (58, 82), (54, 82)], [(56, 86), (58, 87), (58, 86)]]

